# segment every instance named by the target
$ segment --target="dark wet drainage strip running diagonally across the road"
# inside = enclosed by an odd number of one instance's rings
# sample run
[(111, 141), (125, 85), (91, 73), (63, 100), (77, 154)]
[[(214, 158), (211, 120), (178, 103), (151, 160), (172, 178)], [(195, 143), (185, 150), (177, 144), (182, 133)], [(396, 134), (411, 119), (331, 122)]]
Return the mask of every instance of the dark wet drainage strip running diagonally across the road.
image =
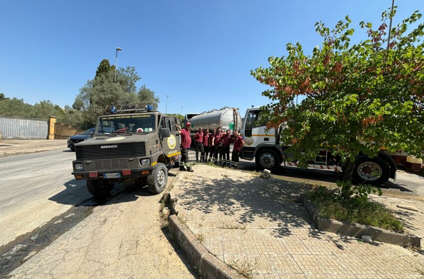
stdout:
[[(115, 189), (116, 188), (118, 187), (115, 187)], [(123, 187), (115, 189), (109, 198), (100, 200), (93, 197), (87, 199), (75, 207), (70, 208), (65, 213), (54, 217), (43, 226), (1, 246), (0, 278), (5, 278), (7, 274), (18, 268), (37, 252), (44, 249), (73, 226), (84, 220), (93, 212), (96, 206), (105, 204), (123, 191)]]

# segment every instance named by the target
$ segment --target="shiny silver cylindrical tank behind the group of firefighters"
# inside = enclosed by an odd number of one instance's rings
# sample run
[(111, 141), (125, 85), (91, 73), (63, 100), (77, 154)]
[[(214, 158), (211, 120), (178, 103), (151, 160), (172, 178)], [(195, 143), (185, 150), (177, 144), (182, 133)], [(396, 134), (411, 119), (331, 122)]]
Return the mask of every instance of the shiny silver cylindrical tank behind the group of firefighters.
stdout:
[(203, 114), (197, 115), (190, 120), (192, 124), (192, 134), (199, 132), (199, 128), (209, 129), (212, 131), (213, 128), (222, 128), (225, 132), (226, 129), (231, 131), (231, 134), (235, 129), (241, 128), (241, 117), (237, 108), (222, 108), (220, 110), (212, 110), (210, 112), (204, 112)]

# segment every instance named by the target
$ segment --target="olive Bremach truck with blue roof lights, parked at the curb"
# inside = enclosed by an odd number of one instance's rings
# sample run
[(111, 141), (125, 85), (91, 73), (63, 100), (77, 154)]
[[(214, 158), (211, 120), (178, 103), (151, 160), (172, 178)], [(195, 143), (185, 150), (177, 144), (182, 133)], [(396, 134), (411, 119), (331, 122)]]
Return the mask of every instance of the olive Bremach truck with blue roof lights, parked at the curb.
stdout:
[(107, 106), (90, 138), (75, 144), (75, 179), (86, 179), (88, 191), (108, 196), (115, 183), (141, 184), (161, 193), (168, 168), (180, 166), (176, 117), (151, 105)]

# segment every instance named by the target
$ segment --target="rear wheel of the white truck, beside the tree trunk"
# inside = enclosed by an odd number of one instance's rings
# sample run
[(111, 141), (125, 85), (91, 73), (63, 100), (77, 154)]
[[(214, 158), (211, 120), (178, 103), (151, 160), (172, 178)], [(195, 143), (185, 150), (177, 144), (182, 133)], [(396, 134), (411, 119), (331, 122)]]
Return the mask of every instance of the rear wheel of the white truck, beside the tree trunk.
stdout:
[[(376, 172), (376, 175), (372, 173)], [(390, 165), (379, 157), (369, 158), (362, 155), (356, 158), (352, 180), (357, 184), (379, 186), (389, 180)]]

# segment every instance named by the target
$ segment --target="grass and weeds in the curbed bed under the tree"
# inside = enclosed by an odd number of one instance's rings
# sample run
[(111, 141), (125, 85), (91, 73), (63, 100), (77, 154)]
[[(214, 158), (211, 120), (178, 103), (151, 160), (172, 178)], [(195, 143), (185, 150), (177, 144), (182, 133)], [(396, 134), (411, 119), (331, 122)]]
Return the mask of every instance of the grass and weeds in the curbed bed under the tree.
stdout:
[[(309, 198), (314, 202), (323, 217), (349, 221), (362, 225), (374, 226), (396, 232), (404, 232), (404, 226), (388, 208), (384, 205), (366, 200), (358, 205), (344, 200), (334, 200), (332, 192), (323, 194), (321, 190), (319, 198), (314, 195), (316, 192), (309, 192)], [(327, 198), (326, 198), (327, 197)]]

